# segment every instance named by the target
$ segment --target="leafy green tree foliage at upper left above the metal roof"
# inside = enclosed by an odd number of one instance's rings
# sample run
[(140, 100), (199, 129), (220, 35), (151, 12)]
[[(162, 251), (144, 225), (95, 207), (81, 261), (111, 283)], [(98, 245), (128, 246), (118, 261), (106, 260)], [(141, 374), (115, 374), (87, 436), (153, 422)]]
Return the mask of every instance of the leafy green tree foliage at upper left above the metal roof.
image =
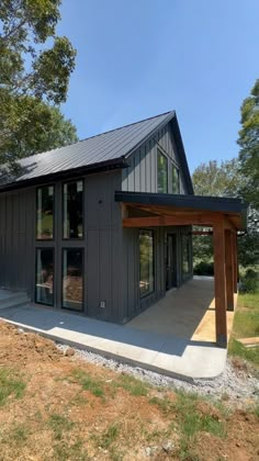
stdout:
[(75, 126), (54, 106), (66, 101), (76, 58), (68, 38), (55, 35), (59, 5), (60, 0), (1, 0), (2, 164), (77, 140)]

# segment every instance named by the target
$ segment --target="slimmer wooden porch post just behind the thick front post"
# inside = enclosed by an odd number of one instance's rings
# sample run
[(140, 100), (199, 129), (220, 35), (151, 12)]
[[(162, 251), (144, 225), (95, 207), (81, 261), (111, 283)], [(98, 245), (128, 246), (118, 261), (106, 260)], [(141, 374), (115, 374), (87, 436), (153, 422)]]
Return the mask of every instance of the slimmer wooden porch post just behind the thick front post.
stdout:
[(225, 231), (226, 303), (227, 311), (234, 311), (234, 258), (232, 232)]

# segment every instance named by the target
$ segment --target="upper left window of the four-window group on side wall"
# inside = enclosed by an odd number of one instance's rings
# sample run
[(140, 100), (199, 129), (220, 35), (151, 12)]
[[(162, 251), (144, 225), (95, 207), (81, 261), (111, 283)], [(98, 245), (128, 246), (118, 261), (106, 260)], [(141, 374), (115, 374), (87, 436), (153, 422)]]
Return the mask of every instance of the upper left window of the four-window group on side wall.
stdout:
[(37, 189), (37, 239), (53, 239), (54, 187)]

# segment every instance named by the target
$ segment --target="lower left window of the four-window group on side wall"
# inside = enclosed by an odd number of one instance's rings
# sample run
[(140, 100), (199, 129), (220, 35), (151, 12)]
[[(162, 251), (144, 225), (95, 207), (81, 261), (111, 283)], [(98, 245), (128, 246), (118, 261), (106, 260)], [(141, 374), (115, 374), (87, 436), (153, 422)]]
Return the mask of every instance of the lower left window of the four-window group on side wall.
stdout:
[(36, 302), (53, 305), (54, 251), (36, 250)]

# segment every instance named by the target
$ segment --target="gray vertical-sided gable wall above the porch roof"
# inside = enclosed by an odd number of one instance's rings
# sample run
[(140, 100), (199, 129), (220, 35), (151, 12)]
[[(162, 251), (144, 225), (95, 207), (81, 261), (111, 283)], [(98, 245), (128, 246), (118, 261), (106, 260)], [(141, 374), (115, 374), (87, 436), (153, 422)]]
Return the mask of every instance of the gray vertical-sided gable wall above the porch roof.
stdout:
[[(183, 176), (181, 172), (176, 143), (171, 125), (168, 123), (158, 131), (157, 135), (148, 139), (130, 157), (131, 166), (123, 170), (122, 190), (131, 192), (157, 192), (157, 147), (172, 160), (180, 171), (180, 193), (187, 193)], [(169, 192), (171, 190), (171, 175), (168, 175)]]

